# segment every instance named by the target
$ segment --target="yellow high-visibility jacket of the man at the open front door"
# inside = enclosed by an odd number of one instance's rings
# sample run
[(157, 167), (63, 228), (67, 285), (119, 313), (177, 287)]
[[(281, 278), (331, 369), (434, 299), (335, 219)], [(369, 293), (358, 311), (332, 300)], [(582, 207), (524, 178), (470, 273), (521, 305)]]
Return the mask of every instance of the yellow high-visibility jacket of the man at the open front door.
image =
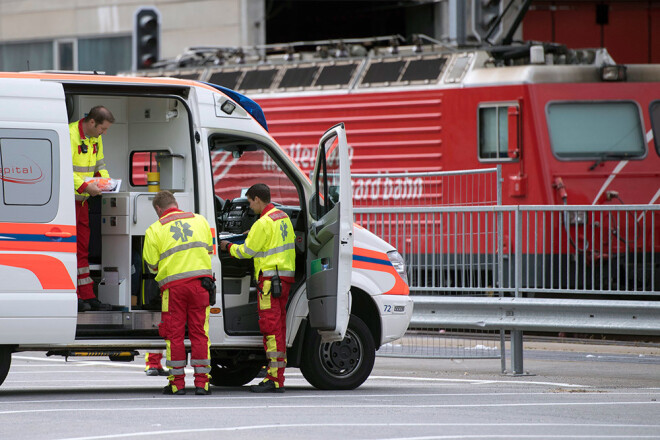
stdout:
[(296, 274), (295, 240), (289, 216), (269, 203), (250, 228), (245, 243), (230, 246), (229, 253), (234, 258), (253, 258), (256, 280), (260, 272), (265, 278), (272, 277), (276, 267), (281, 277), (293, 278)]

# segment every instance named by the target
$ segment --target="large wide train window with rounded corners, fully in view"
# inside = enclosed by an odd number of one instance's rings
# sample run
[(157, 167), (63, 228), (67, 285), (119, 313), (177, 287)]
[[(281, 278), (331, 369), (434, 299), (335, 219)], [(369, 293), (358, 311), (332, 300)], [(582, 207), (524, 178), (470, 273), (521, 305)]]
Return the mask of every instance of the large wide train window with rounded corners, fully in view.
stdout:
[(558, 158), (619, 159), (646, 152), (641, 112), (634, 102), (551, 102), (546, 115)]

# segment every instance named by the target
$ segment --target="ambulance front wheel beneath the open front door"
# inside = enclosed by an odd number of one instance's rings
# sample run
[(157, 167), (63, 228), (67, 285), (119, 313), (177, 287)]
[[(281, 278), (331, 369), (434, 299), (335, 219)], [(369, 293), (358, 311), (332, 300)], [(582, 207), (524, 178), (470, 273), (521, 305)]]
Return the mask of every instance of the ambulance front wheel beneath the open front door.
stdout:
[(367, 380), (375, 359), (369, 328), (351, 315), (342, 341), (321, 343), (318, 332), (307, 333), (300, 371), (307, 382), (321, 390), (352, 390)]

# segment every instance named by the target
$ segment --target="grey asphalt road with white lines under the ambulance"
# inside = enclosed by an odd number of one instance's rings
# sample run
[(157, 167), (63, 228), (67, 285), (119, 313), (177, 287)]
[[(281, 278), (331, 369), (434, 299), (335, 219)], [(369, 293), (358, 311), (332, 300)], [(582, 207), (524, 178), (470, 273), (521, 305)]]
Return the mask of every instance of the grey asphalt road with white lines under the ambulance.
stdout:
[[(353, 391), (290, 369), (286, 393), (163, 396), (143, 359), (18, 353), (0, 387), (0, 439), (660, 439), (660, 350), (525, 345), (529, 375), (498, 359), (376, 359)], [(188, 376), (191, 381), (192, 376)]]

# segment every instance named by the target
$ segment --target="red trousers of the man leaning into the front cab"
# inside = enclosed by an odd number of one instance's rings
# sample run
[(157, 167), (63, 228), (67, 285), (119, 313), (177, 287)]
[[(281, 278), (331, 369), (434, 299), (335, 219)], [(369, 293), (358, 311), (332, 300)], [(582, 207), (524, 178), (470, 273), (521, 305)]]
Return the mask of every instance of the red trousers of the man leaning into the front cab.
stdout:
[(273, 298), (270, 280), (259, 283), (259, 330), (263, 335), (264, 350), (268, 358), (265, 380), (272, 380), (278, 387), (284, 386), (286, 367), (286, 303), (291, 283), (282, 280), (282, 295)]

